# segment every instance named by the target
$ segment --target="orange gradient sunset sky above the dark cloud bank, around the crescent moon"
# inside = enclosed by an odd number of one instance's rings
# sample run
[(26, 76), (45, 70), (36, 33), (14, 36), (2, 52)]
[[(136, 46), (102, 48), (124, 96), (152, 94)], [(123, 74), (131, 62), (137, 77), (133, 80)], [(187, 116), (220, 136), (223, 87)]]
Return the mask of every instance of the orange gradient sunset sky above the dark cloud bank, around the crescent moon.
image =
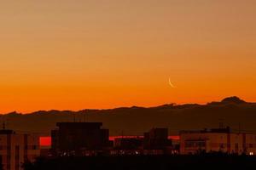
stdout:
[(1, 1), (0, 112), (256, 101), (255, 8), (255, 0)]

